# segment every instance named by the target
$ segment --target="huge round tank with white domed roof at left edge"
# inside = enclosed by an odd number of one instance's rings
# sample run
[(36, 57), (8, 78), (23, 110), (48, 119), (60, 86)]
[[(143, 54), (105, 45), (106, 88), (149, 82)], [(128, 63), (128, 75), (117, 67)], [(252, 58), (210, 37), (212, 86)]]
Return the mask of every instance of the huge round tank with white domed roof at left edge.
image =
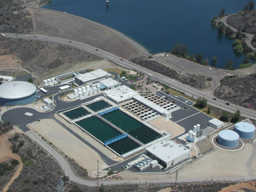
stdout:
[(0, 86), (1, 105), (25, 105), (36, 99), (36, 87), (26, 81), (11, 81)]

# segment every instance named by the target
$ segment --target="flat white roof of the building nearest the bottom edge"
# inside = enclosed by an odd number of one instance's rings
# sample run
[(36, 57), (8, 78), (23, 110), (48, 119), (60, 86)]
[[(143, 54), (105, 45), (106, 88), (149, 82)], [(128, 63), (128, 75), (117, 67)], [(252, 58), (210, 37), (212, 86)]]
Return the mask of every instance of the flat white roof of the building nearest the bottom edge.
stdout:
[[(184, 150), (184, 148), (186, 150)], [(158, 157), (158, 159), (161, 159), (164, 162), (172, 161), (177, 157), (190, 152), (188, 148), (170, 140), (161, 141), (149, 147), (146, 147), (146, 151), (150, 152), (151, 154)]]

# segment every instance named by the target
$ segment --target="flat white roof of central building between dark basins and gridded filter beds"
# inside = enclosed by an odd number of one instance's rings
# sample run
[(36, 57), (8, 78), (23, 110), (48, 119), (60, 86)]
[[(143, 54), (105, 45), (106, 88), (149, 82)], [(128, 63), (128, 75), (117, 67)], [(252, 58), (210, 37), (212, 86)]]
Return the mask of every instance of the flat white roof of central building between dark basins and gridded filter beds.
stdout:
[(127, 99), (131, 99), (135, 95), (139, 95), (136, 91), (126, 86), (120, 86), (120, 87), (105, 91), (104, 94), (107, 97), (110, 97), (111, 99), (117, 101), (118, 103), (125, 101)]

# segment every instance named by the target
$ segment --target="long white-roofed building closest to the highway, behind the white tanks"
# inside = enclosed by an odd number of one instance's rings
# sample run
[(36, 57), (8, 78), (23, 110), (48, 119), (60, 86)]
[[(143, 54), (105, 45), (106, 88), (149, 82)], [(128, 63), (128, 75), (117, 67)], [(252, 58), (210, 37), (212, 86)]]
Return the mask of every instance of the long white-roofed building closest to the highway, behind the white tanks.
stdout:
[(75, 76), (75, 83), (79, 86), (82, 86), (84, 84), (89, 83), (96, 83), (102, 79), (106, 79), (111, 77), (112, 75), (108, 72), (105, 72), (101, 69), (98, 69), (96, 71), (92, 71), (89, 73), (79, 74)]

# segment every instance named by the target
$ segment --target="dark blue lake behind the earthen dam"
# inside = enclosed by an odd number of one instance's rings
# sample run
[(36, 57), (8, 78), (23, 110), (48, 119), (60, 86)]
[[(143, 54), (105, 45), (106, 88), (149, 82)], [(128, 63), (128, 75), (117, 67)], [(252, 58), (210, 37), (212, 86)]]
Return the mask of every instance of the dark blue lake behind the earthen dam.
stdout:
[(172, 51), (175, 43), (186, 45), (189, 54), (218, 57), (217, 67), (233, 60), (237, 68), (243, 55), (232, 50), (231, 38), (218, 34), (212, 17), (225, 8), (226, 14), (242, 10), (241, 0), (51, 0), (43, 8), (85, 17), (129, 36), (150, 53)]

